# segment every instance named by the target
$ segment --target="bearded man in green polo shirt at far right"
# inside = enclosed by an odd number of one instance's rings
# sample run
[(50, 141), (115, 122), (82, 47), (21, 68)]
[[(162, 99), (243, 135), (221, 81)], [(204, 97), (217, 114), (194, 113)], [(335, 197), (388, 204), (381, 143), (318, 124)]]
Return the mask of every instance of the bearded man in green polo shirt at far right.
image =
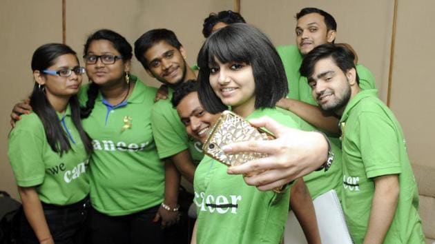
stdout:
[(361, 90), (354, 54), (324, 44), (300, 67), (322, 110), (340, 117), (342, 206), (355, 243), (425, 243), (418, 190), (396, 117)]

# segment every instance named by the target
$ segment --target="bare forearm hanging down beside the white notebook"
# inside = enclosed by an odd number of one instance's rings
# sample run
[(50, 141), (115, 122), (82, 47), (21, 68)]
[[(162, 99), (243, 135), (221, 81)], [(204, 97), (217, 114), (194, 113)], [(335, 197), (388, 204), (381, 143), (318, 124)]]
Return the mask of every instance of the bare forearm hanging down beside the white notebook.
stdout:
[(290, 208), (300, 223), (307, 243), (322, 243), (317, 225), (316, 212), (307, 185), (297, 179), (290, 189)]

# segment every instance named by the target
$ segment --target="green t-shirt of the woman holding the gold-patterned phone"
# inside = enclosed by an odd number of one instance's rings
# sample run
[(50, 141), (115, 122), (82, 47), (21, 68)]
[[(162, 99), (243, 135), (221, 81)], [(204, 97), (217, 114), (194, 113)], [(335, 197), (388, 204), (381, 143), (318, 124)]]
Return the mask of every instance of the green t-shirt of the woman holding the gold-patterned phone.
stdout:
[[(255, 110), (247, 119), (269, 116), (299, 128), (276, 109)], [(280, 243), (289, 211), (289, 190), (260, 192), (242, 175), (226, 174), (226, 165), (204, 156), (195, 171), (197, 243)]]

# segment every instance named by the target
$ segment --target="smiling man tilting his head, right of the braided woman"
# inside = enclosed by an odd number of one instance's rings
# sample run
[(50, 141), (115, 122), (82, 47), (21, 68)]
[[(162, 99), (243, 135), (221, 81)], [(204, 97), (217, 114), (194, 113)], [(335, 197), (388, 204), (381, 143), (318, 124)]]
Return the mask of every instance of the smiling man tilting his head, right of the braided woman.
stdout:
[[(151, 77), (168, 86), (169, 99), (154, 103), (151, 114), (153, 136), (160, 159), (173, 161), (184, 178), (193, 183), (195, 165), (204, 154), (200, 143), (186, 134), (177, 110), (171, 104), (173, 91), (178, 85), (196, 79), (195, 71), (186, 63), (186, 51), (173, 31), (154, 29), (135, 41), (135, 57)], [(173, 174), (166, 180), (180, 181), (180, 176)], [(177, 203), (165, 204), (171, 208), (177, 206)]]

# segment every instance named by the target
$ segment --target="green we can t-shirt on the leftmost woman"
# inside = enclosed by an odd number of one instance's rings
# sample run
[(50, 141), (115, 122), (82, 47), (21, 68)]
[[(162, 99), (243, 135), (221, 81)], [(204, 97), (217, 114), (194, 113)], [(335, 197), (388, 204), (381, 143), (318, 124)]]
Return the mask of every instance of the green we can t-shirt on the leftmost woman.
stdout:
[(69, 205), (89, 194), (88, 154), (72, 123), (70, 106), (57, 114), (71, 150), (62, 156), (48, 144), (39, 116), (23, 114), (9, 135), (8, 156), (21, 187), (35, 187), (43, 203)]

